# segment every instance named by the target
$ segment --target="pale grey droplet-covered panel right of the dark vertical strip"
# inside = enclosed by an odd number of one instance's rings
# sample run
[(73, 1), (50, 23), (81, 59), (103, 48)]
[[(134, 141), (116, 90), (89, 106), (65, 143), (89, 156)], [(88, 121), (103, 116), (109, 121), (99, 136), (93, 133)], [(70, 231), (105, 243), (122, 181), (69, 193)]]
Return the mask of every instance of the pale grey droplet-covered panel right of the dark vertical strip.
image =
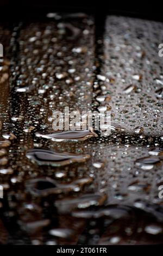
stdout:
[(109, 16), (104, 34), (103, 94), (109, 90), (112, 119), (133, 133), (162, 135), (162, 23)]

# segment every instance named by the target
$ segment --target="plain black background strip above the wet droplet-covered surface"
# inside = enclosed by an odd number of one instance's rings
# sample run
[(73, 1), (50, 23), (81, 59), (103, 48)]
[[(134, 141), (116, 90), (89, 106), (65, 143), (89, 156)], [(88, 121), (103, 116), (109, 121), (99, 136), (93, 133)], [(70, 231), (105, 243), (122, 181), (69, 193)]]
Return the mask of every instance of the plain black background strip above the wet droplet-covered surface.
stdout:
[(106, 14), (127, 15), (163, 21), (162, 1), (116, 0), (0, 0), (0, 19), (32, 19), (48, 12), (86, 12), (100, 18)]

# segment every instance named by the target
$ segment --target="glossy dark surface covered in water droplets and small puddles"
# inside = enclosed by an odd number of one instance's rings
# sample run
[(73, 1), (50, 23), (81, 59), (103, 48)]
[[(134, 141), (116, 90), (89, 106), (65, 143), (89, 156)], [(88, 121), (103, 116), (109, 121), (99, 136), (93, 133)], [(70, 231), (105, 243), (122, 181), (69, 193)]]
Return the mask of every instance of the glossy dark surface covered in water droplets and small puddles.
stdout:
[[(48, 14), (0, 31), (0, 243), (162, 243), (162, 23)], [(65, 106), (106, 106), (111, 134), (54, 132)]]

